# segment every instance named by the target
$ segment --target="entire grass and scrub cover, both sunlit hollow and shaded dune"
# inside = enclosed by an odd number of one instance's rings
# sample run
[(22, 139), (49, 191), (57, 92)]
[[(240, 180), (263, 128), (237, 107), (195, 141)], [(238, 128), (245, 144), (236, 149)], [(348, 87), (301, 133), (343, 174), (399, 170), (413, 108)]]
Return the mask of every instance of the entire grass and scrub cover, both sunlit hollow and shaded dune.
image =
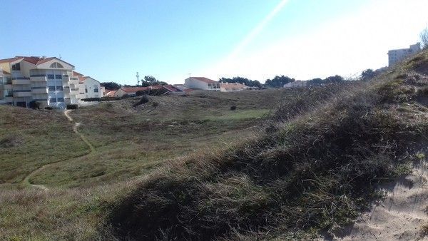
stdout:
[[(0, 106), (6, 240), (335, 235), (426, 153), (428, 53), (371, 81)], [(232, 111), (232, 106), (235, 106)]]

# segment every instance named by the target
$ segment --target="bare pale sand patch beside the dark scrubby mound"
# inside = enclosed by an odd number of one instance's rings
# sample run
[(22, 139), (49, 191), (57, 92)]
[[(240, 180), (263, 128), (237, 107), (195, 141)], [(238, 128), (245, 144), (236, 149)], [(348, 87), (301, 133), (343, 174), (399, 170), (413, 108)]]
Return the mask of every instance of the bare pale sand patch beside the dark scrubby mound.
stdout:
[(340, 240), (428, 240), (428, 163), (414, 164), (413, 173), (382, 185), (387, 196), (360, 217)]

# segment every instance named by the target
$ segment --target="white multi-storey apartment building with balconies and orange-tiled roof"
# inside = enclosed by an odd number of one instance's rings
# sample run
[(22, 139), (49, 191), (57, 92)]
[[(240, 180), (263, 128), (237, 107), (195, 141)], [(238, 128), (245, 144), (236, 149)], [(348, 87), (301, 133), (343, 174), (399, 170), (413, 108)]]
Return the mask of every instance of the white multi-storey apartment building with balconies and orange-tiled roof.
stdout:
[[(66, 108), (79, 103), (82, 88), (86, 96), (85, 82), (82, 86), (74, 76), (74, 66), (56, 57), (5, 58), (0, 59), (0, 68), (0, 104), (29, 107), (31, 101), (38, 101), (42, 106)], [(94, 81), (88, 81), (91, 93), (96, 93)], [(102, 95), (100, 87), (98, 92)]]

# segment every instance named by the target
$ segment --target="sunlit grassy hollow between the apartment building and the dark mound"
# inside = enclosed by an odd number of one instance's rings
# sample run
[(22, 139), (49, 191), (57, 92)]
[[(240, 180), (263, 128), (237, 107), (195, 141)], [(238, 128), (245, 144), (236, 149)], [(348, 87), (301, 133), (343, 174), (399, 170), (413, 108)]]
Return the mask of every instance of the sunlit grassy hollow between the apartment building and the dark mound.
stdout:
[[(0, 106), (0, 239), (93, 238), (106, 208), (136, 177), (253, 135), (276, 103), (297, 94), (196, 92), (153, 97), (137, 108), (137, 98), (81, 108), (71, 116), (93, 153), (63, 113)], [(49, 190), (26, 185), (44, 165), (29, 182)]]

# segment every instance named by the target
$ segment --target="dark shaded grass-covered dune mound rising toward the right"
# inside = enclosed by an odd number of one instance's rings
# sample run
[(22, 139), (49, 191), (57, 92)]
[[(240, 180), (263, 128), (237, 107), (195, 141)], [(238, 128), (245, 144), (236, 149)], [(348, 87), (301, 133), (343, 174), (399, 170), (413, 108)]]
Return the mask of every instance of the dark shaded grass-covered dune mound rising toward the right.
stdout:
[(137, 240), (334, 232), (426, 144), (425, 60), (421, 53), (370, 83), (307, 91), (260, 135), (152, 173), (108, 222), (118, 237)]

